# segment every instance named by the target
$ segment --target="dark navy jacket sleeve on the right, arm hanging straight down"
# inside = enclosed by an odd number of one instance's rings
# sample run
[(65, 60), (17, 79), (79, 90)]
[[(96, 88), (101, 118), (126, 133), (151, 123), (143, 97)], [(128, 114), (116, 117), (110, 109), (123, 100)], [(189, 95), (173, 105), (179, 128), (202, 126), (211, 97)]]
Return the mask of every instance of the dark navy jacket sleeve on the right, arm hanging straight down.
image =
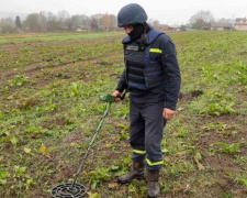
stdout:
[(181, 86), (180, 68), (177, 59), (177, 52), (173, 42), (164, 34), (160, 42), (161, 65), (166, 76), (166, 100), (164, 108), (176, 110), (178, 95)]

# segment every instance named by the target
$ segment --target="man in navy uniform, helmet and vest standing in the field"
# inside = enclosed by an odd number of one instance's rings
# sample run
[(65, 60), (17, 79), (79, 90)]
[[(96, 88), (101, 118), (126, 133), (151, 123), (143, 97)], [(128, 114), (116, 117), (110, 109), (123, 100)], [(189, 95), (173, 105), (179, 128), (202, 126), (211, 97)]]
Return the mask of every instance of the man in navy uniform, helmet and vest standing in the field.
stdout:
[(133, 168), (119, 180), (144, 178), (146, 167), (148, 196), (158, 197), (162, 131), (175, 114), (181, 78), (171, 38), (146, 21), (147, 14), (137, 3), (123, 7), (117, 14), (117, 25), (127, 34), (123, 40), (125, 69), (112, 96), (130, 90)]

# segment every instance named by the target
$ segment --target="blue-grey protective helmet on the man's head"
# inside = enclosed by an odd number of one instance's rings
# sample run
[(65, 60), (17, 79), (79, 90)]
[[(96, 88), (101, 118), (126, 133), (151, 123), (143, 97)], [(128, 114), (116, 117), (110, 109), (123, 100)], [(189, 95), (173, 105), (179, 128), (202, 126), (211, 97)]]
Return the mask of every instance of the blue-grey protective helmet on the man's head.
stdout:
[(117, 26), (126, 24), (144, 23), (147, 21), (145, 10), (137, 3), (130, 3), (123, 7), (117, 14)]

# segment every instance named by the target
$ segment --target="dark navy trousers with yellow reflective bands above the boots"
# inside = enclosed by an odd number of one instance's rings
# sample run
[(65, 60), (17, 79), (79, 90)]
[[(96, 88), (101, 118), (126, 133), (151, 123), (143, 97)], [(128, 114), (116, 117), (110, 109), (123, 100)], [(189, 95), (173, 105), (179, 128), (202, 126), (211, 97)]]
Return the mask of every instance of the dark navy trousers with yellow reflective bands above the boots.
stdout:
[(132, 160), (144, 162), (147, 169), (160, 169), (162, 165), (161, 141), (166, 120), (162, 117), (164, 101), (155, 103), (131, 102)]

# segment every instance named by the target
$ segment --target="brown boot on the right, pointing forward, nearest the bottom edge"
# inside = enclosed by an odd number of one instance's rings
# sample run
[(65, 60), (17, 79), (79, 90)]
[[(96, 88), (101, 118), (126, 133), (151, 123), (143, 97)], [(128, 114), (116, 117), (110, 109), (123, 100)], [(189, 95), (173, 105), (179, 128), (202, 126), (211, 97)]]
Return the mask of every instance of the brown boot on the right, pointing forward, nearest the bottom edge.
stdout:
[(147, 193), (148, 197), (159, 197), (159, 170), (148, 169), (147, 170)]

